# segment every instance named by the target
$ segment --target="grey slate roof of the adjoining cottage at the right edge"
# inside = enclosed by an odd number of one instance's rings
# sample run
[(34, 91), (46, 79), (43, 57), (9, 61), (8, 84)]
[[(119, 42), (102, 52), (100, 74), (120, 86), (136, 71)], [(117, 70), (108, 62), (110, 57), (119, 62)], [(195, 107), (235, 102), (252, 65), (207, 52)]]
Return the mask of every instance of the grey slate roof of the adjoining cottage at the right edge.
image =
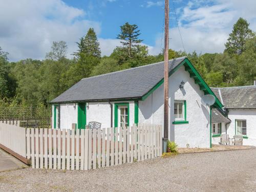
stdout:
[[(256, 86), (211, 88), (226, 109), (256, 109)], [(222, 99), (221, 99), (222, 98)]]

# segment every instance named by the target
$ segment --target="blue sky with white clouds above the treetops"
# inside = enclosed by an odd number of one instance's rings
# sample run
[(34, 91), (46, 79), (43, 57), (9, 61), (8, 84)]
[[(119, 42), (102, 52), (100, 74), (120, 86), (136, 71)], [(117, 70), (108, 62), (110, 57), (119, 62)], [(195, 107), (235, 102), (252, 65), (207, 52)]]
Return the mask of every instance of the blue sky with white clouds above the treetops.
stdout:
[[(170, 48), (183, 50), (173, 2), (170, 1)], [(174, 0), (186, 52), (223, 52), (239, 17), (256, 31), (254, 0)], [(64, 40), (68, 57), (90, 27), (97, 33), (102, 55), (110, 55), (125, 22), (136, 24), (150, 54), (163, 48), (164, 1), (161, 0), (0, 0), (0, 47), (9, 60), (44, 59), (52, 41)]]

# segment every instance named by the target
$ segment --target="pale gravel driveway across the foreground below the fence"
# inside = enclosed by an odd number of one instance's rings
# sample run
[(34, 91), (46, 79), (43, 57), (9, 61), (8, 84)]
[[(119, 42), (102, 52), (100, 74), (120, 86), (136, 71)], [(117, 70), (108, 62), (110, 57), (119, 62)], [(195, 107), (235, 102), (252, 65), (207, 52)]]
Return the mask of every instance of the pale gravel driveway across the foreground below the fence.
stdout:
[(181, 154), (89, 171), (0, 173), (0, 191), (255, 191), (256, 149)]

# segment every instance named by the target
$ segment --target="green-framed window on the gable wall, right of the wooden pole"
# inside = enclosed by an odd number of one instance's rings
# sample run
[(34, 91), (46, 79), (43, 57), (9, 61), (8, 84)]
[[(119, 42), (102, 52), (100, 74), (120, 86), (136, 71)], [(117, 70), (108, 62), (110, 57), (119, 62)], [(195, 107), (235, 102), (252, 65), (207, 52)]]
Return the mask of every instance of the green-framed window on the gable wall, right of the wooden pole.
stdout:
[(174, 122), (173, 124), (188, 123), (187, 121), (187, 109), (185, 100), (174, 101)]

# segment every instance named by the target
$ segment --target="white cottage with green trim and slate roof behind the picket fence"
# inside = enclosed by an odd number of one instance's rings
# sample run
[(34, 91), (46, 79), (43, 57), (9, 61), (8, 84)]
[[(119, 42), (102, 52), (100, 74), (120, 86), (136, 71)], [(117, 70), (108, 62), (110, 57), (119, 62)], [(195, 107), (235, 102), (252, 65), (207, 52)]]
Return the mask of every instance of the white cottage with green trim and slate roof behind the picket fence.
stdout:
[[(90, 121), (101, 127), (163, 124), (163, 75), (164, 63), (158, 62), (81, 79), (51, 101), (52, 127), (84, 129)], [(186, 57), (169, 60), (168, 133), (180, 147), (210, 147), (210, 109), (201, 104), (205, 94), (215, 96)], [(213, 107), (222, 106), (216, 97)]]

